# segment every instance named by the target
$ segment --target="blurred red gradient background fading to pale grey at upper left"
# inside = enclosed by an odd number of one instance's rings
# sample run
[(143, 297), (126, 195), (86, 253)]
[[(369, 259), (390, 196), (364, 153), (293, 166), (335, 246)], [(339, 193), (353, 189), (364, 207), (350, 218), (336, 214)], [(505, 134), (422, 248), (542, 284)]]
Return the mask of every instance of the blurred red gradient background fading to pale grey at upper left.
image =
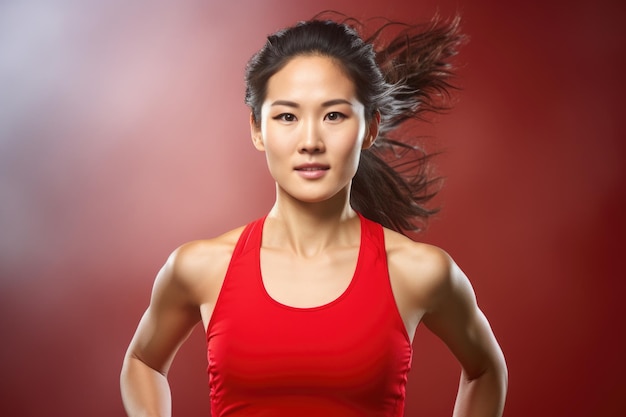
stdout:
[[(460, 10), (459, 103), (424, 132), (443, 211), (505, 351), (505, 415), (626, 415), (622, 1), (0, 2), (0, 414), (122, 416), (118, 375), (179, 244), (264, 214), (247, 59), (324, 9)], [(171, 373), (208, 416), (198, 327)], [(407, 416), (451, 415), (458, 365), (420, 329)]]

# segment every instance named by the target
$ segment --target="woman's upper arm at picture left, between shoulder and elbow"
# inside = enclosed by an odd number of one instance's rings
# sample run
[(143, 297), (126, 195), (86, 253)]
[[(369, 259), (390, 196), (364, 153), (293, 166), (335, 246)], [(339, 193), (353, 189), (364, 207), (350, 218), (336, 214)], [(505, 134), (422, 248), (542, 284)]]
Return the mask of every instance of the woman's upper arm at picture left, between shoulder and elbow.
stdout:
[(200, 320), (189, 290), (177, 276), (172, 259), (159, 271), (150, 305), (143, 314), (127, 356), (166, 374), (180, 345)]

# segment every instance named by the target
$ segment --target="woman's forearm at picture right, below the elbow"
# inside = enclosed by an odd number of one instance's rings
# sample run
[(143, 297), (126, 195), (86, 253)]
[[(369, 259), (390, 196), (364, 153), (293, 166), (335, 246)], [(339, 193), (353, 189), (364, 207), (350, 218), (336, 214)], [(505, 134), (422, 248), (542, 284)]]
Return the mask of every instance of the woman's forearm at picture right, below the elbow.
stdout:
[(453, 417), (501, 417), (507, 391), (507, 371), (502, 364), (476, 378), (461, 373)]

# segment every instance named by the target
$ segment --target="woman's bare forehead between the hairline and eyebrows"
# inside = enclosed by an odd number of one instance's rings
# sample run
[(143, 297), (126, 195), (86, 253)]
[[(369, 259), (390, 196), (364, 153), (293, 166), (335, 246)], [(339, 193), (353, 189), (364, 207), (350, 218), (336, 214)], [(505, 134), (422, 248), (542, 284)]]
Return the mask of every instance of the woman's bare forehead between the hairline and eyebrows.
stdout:
[(270, 77), (267, 99), (297, 96), (301, 99), (324, 95), (354, 96), (355, 85), (343, 66), (321, 55), (296, 56)]

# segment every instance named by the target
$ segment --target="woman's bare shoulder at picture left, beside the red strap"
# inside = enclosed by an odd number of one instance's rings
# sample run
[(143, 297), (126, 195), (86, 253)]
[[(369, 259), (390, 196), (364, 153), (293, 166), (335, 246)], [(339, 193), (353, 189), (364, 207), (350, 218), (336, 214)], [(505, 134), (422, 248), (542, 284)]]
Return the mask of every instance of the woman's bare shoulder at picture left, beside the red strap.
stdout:
[(244, 226), (212, 239), (195, 240), (179, 246), (163, 267), (169, 270), (165, 275), (201, 303), (206, 290), (221, 285), (243, 229)]

